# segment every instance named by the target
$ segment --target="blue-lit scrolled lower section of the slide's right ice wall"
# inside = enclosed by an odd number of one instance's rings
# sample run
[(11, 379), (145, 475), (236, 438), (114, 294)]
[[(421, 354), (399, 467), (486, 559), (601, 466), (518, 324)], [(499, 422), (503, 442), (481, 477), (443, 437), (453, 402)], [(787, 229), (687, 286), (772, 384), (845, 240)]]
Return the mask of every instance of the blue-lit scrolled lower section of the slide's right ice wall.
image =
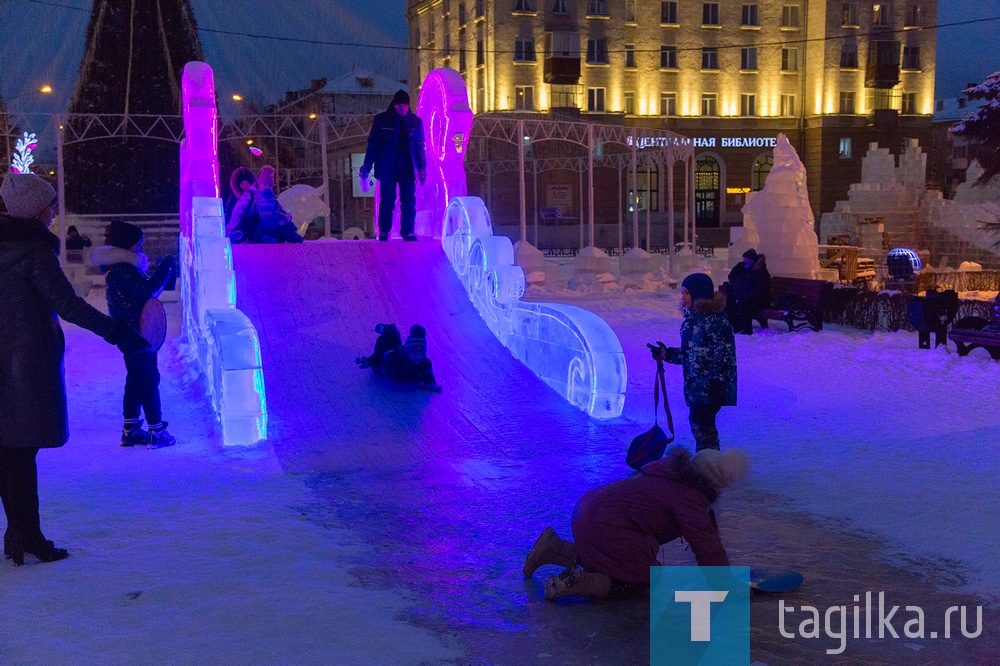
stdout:
[(618, 336), (593, 312), (522, 303), (524, 272), (514, 246), (494, 236), (478, 197), (455, 197), (441, 244), (479, 314), (514, 357), (570, 403), (597, 418), (620, 416), (627, 372)]

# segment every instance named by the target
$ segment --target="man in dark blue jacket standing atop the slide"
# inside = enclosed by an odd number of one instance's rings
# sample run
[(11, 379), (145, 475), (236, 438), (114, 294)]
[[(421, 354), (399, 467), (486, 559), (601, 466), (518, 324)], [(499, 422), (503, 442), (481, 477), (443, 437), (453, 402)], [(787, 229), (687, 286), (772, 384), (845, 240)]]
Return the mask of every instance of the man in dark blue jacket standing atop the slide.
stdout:
[(372, 165), (375, 178), (382, 186), (378, 206), (378, 239), (389, 240), (392, 212), (396, 208), (399, 189), (399, 233), (405, 241), (415, 241), (413, 222), (417, 215), (416, 181), (427, 179), (427, 156), (424, 152), (424, 126), (410, 112), (410, 96), (397, 90), (389, 108), (375, 116), (368, 133), (368, 150), (361, 165), (362, 188), (368, 181)]

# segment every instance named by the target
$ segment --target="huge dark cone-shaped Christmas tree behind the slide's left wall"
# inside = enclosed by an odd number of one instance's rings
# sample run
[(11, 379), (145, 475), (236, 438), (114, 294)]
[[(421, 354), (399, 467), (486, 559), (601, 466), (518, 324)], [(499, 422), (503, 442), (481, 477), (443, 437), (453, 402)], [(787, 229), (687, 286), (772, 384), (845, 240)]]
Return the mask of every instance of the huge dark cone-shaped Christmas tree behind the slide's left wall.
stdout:
[[(192, 60), (204, 60), (196, 30), (188, 0), (94, 1), (87, 49), (69, 109), (73, 131), (67, 136), (79, 136), (87, 123), (96, 120), (74, 114), (109, 114), (101, 122), (128, 131), (118, 130), (119, 136), (112, 138), (67, 142), (70, 210), (177, 211), (179, 148), (172, 133), (149, 116), (180, 114), (181, 71)], [(123, 116), (124, 125), (117, 125)]]

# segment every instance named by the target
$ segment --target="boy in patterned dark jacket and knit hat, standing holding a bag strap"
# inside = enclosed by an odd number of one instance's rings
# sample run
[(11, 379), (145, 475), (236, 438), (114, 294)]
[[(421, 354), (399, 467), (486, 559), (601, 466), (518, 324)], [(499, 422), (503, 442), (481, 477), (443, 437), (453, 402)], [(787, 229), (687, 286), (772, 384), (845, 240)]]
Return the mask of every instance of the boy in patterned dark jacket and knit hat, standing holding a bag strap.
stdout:
[(726, 295), (715, 291), (708, 275), (692, 273), (681, 282), (681, 310), (681, 346), (661, 342), (653, 358), (683, 367), (684, 401), (697, 451), (718, 449), (716, 416), (722, 407), (736, 404), (736, 343), (725, 315)]

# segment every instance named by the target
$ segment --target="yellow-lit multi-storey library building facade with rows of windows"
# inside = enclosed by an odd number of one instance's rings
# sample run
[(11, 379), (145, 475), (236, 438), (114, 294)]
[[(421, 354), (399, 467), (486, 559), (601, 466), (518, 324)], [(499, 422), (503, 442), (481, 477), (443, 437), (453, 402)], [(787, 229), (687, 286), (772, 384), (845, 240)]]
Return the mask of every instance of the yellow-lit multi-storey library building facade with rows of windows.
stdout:
[(937, 0), (409, 0), (408, 18), (414, 92), (451, 67), (477, 114), (569, 111), (693, 138), (700, 227), (739, 223), (778, 133), (817, 218), (860, 180), (870, 142), (930, 142)]

